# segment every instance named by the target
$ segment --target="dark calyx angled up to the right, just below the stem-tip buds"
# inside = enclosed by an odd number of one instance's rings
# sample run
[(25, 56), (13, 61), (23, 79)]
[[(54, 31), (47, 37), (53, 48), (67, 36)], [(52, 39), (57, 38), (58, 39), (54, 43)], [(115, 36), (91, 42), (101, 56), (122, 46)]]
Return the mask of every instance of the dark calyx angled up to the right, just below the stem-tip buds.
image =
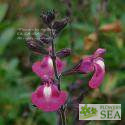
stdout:
[(52, 28), (55, 30), (55, 33), (59, 33), (69, 22), (69, 18), (64, 18), (60, 21), (55, 21), (52, 25)]

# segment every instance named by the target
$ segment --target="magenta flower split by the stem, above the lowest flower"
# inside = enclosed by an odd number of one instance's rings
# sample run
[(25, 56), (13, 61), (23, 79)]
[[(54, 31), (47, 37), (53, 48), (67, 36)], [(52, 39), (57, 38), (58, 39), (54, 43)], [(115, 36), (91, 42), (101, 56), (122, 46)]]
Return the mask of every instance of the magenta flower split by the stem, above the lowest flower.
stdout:
[[(58, 74), (63, 71), (65, 62), (59, 58), (56, 59)], [(32, 66), (33, 72), (44, 80), (52, 79), (54, 77), (53, 62), (50, 56), (45, 56), (42, 61), (37, 61)]]

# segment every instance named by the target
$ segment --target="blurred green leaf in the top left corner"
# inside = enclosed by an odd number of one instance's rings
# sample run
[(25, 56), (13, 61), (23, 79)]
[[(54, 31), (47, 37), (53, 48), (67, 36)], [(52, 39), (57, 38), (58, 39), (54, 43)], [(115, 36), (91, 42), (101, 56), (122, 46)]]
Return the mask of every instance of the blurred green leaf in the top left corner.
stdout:
[(8, 9), (8, 4), (0, 4), (0, 22), (4, 19)]

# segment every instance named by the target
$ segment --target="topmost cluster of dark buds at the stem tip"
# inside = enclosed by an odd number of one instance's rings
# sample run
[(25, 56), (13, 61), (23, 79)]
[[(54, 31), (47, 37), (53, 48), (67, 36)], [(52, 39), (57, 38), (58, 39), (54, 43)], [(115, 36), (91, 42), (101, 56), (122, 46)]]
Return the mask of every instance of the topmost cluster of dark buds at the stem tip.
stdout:
[(45, 24), (50, 26), (51, 22), (55, 19), (55, 11), (54, 10), (48, 10), (46, 12), (44, 11), (42, 12), (40, 17), (42, 17), (42, 20)]

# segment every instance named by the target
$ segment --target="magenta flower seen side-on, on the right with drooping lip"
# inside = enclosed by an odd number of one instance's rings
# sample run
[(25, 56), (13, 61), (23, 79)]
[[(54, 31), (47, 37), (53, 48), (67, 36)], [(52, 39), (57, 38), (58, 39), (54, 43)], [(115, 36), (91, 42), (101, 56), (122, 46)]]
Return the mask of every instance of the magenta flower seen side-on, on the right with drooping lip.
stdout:
[(89, 81), (90, 88), (98, 88), (103, 81), (105, 75), (105, 64), (103, 54), (105, 49), (97, 49), (96, 52), (89, 57), (86, 57), (82, 60), (82, 63), (78, 70), (83, 73), (94, 72), (92, 79)]

